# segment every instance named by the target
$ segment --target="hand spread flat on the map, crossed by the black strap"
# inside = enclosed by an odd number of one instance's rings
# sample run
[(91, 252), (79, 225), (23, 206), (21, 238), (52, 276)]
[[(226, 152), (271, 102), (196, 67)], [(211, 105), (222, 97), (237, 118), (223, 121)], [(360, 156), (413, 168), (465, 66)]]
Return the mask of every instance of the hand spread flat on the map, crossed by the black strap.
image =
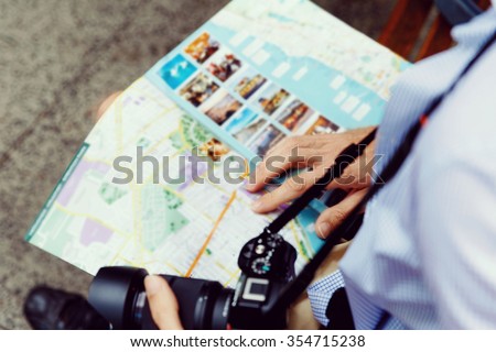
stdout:
[[(261, 213), (272, 211), (280, 205), (301, 196), (325, 174), (346, 146), (358, 143), (373, 129), (365, 128), (339, 134), (292, 136), (281, 141), (258, 165), (255, 179), (250, 179), (247, 189), (260, 190), (272, 178), (283, 175), (291, 168), (309, 167), (310, 170), (288, 178), (280, 187), (260, 197), (252, 205), (252, 210)], [(371, 167), (376, 161), (374, 145), (374, 142), (369, 144), (362, 157), (346, 167), (343, 175), (327, 186), (327, 189), (345, 189), (348, 195), (338, 205), (321, 213), (315, 224), (319, 237), (326, 238), (367, 193), (371, 182)]]

